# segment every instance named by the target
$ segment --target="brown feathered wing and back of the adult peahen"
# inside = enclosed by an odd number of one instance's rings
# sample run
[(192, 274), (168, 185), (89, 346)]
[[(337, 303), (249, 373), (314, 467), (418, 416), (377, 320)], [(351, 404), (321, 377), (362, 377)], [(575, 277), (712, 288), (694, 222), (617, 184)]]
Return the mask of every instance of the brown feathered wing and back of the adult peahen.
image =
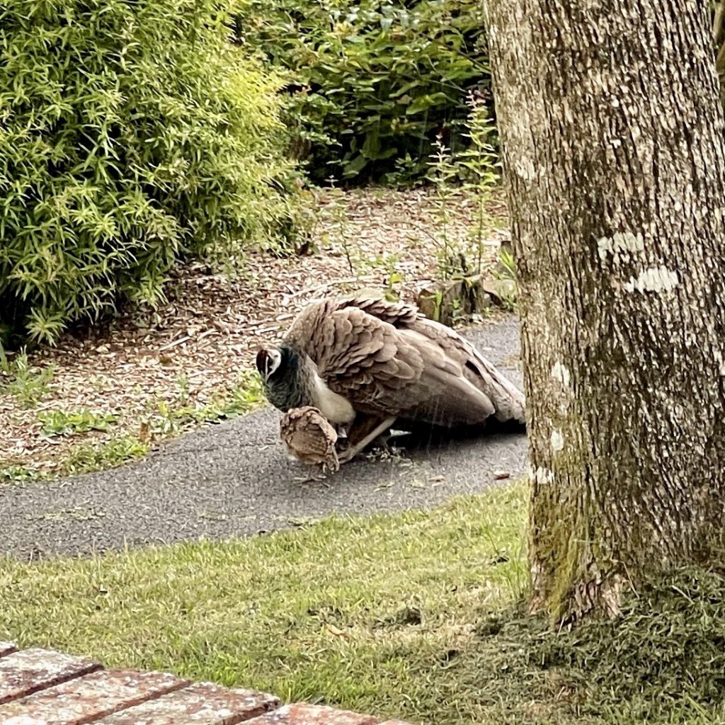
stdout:
[(466, 375), (455, 345), (420, 319), (415, 307), (384, 299), (325, 300), (302, 312), (286, 340), (363, 413), (441, 425), (489, 418), (496, 408)]

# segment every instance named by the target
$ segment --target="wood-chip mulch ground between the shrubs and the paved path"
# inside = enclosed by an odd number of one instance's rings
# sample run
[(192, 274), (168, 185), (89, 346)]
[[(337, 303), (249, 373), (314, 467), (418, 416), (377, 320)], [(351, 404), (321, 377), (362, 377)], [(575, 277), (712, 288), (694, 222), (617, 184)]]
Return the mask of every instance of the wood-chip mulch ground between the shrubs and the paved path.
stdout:
[[(178, 269), (157, 309), (125, 310), (29, 355), (31, 381), (53, 370), (36, 402), (17, 386), (9, 392), (12, 379), (0, 376), (0, 481), (115, 465), (185, 428), (253, 407), (255, 350), (307, 302), (363, 288), (414, 302), (420, 286), (439, 277), (443, 237), (469, 247), (479, 225), (465, 198), (447, 202), (444, 223), (426, 189), (352, 191), (339, 202), (320, 192), (315, 204), (312, 254), (251, 253), (233, 273), (199, 262)], [(488, 207), (489, 223), (501, 228), (484, 230), (484, 269), (508, 236), (504, 204), (497, 197)], [(83, 411), (104, 429), (76, 424)], [(49, 425), (54, 415), (70, 420), (65, 431)]]

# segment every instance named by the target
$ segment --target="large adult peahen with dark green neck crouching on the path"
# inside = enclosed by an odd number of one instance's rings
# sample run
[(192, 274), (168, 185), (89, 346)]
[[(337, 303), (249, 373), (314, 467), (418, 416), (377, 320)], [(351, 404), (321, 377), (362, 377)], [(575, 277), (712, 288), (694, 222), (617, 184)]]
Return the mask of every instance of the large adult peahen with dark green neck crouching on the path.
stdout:
[(471, 343), (412, 305), (386, 299), (313, 302), (278, 347), (260, 349), (257, 369), (279, 410), (312, 406), (347, 430), (341, 463), (395, 421), (524, 423), (523, 393)]

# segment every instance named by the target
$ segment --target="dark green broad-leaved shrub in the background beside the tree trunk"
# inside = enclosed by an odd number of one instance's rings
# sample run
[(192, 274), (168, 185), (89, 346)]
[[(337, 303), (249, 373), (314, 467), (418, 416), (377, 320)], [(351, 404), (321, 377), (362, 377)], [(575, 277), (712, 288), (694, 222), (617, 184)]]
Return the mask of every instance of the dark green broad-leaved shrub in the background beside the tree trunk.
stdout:
[(426, 173), (462, 144), (466, 91), (489, 85), (480, 0), (238, 0), (236, 35), (289, 74), (289, 123), (316, 181)]

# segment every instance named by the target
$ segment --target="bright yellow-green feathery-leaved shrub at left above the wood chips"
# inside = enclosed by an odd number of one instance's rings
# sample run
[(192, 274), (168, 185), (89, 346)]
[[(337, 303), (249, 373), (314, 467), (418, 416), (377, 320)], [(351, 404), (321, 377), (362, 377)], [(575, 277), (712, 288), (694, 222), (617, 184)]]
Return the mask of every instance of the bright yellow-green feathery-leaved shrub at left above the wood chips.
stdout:
[(154, 302), (179, 257), (289, 227), (278, 80), (228, 35), (213, 0), (0, 5), (6, 338)]

